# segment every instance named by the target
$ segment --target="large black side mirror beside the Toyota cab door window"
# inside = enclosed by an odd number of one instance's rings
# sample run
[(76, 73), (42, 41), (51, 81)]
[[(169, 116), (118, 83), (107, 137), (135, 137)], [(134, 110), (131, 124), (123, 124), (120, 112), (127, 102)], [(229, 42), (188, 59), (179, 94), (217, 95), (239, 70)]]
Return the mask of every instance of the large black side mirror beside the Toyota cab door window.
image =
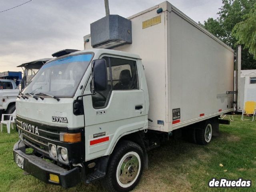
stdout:
[(92, 91), (106, 90), (108, 82), (107, 78), (106, 60), (97, 59), (92, 61)]

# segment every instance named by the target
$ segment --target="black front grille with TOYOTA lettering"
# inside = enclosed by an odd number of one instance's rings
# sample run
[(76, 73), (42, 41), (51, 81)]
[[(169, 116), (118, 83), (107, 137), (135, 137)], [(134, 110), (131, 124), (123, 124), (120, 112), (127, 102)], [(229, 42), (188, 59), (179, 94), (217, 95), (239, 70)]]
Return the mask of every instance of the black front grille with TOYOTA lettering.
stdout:
[(25, 144), (46, 156), (49, 156), (48, 142), (59, 142), (60, 132), (68, 132), (66, 127), (48, 126), (18, 116), (16, 122), (17, 128), (22, 131)]

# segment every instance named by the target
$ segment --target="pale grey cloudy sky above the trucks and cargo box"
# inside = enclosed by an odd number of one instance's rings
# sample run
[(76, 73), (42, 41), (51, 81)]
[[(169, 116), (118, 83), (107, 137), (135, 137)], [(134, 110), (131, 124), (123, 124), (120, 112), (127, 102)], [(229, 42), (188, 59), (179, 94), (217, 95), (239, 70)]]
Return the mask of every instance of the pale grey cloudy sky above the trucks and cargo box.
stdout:
[[(110, 14), (125, 18), (164, 0), (109, 0)], [(63, 49), (84, 49), (90, 24), (105, 16), (104, 0), (0, 0), (0, 72), (52, 58)], [(194, 21), (217, 18), (222, 0), (169, 0)]]

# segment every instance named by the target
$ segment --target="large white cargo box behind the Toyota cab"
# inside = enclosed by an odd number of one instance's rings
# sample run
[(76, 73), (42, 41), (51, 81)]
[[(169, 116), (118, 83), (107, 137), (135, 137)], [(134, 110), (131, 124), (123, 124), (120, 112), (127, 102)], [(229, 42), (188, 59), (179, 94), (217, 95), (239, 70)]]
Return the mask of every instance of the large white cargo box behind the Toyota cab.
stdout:
[[(234, 86), (232, 48), (169, 2), (128, 19), (132, 44), (114, 49), (142, 58), (150, 129), (170, 132), (233, 110), (233, 94), (226, 94)], [(91, 48), (90, 35), (84, 40)]]

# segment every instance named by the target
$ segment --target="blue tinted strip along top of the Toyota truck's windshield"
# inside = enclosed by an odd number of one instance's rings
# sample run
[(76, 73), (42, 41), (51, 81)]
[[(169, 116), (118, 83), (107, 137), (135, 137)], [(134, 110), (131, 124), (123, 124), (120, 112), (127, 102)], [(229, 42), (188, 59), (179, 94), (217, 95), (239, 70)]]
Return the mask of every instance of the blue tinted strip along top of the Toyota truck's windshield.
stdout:
[(74, 55), (74, 56), (65, 57), (65, 58), (61, 58), (61, 59), (49, 62), (49, 63), (45, 64), (44, 66), (42, 66), (42, 69), (60, 65), (60, 64), (90, 61), (91, 59), (92, 59), (92, 54)]

